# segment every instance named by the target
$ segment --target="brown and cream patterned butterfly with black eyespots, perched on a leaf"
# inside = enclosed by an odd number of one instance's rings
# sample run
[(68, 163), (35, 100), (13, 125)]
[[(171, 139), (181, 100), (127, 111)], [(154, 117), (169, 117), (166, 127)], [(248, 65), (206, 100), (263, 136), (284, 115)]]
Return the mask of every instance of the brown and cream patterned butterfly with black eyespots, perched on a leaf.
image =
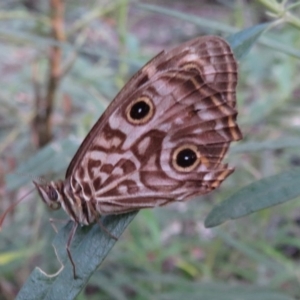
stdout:
[[(119, 92), (88, 133), (64, 180), (35, 185), (77, 225), (100, 216), (185, 201), (217, 188), (242, 138), (236, 123), (237, 62), (221, 38), (162, 51)], [(69, 239), (71, 241), (72, 237)], [(67, 246), (69, 258), (75, 265)]]

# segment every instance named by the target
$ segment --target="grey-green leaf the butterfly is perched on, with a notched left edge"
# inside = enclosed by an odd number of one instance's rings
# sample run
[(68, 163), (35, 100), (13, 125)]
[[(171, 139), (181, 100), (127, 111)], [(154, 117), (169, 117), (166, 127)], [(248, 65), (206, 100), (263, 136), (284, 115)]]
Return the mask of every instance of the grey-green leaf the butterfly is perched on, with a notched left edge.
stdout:
[[(112, 235), (120, 237), (136, 214), (137, 212), (107, 216), (101, 221)], [(51, 276), (36, 268), (20, 290), (17, 300), (74, 299), (116, 243), (98, 224), (78, 228), (71, 244), (78, 277), (74, 279), (73, 268), (66, 252), (72, 226), (72, 222), (64, 226), (53, 243), (59, 261), (64, 265), (62, 270)]]

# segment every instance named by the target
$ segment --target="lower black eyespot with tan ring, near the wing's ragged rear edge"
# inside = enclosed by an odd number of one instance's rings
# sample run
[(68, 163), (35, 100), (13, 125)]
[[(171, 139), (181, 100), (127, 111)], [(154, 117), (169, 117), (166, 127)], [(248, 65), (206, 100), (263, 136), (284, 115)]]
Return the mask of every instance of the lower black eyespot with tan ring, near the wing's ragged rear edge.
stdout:
[(200, 154), (195, 145), (183, 145), (173, 154), (173, 166), (178, 171), (189, 172), (199, 164)]

